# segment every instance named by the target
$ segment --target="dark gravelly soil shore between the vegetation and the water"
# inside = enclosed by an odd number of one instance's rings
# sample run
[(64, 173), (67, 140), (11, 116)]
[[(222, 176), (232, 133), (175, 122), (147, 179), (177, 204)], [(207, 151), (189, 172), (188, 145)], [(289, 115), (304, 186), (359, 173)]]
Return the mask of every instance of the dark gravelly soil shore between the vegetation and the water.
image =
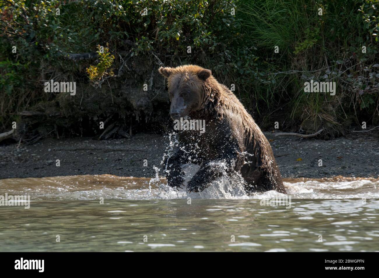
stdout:
[[(351, 133), (323, 141), (276, 137), (265, 132), (283, 177), (378, 177), (379, 136)], [(33, 145), (0, 146), (0, 179), (61, 175), (113, 174), (153, 177), (169, 145), (167, 136), (138, 134), (131, 139), (75, 138), (42, 140)], [(60, 166), (56, 166), (56, 160)], [(147, 166), (144, 166), (144, 160)], [(318, 166), (322, 159), (323, 166)], [(163, 175), (163, 172), (160, 172)]]

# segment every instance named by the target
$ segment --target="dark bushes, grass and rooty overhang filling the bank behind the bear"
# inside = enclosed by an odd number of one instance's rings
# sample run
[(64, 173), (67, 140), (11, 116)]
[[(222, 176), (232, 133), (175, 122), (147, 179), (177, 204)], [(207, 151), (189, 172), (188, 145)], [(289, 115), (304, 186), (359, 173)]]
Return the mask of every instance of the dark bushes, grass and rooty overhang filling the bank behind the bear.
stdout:
[[(157, 68), (189, 63), (235, 84), (264, 129), (325, 127), (332, 138), (377, 124), (378, 8), (378, 0), (0, 1), (0, 131), (13, 121), (25, 140), (101, 136), (99, 121), (113, 125), (106, 138), (162, 129), (169, 106)], [(77, 95), (44, 92), (51, 79), (77, 82)], [(305, 93), (310, 79), (337, 82), (336, 95)]]

